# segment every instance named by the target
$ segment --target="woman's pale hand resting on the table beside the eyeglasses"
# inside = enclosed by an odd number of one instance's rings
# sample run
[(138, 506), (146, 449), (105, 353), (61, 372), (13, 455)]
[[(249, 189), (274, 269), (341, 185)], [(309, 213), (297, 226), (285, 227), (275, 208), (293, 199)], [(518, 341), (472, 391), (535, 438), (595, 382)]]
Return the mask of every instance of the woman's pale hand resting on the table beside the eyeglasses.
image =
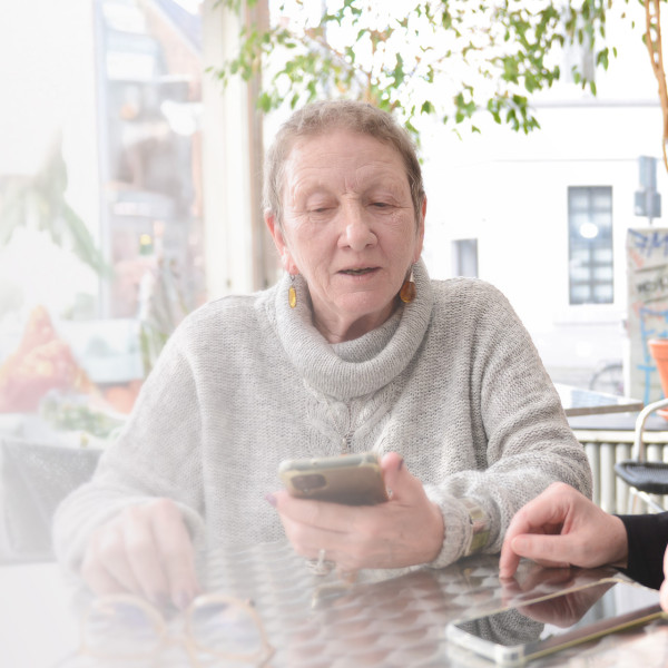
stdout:
[(131, 505), (99, 527), (81, 563), (94, 593), (135, 593), (164, 607), (186, 608), (199, 592), (195, 549), (170, 499)]

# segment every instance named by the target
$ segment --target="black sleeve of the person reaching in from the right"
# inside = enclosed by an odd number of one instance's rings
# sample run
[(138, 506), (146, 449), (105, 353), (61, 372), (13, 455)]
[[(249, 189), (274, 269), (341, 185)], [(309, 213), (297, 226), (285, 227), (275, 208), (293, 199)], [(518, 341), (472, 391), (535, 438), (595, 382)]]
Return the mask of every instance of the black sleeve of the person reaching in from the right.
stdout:
[(658, 589), (664, 581), (668, 512), (618, 517), (623, 522), (629, 541), (627, 568), (620, 570), (641, 584)]

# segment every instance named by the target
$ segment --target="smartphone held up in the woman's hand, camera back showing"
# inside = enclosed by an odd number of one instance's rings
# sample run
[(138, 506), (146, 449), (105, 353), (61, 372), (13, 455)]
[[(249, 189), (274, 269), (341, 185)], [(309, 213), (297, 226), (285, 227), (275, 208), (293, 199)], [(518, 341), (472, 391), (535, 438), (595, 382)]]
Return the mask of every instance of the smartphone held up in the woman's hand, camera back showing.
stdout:
[(293, 497), (345, 505), (387, 501), (381, 462), (373, 452), (331, 458), (287, 460), (278, 475)]

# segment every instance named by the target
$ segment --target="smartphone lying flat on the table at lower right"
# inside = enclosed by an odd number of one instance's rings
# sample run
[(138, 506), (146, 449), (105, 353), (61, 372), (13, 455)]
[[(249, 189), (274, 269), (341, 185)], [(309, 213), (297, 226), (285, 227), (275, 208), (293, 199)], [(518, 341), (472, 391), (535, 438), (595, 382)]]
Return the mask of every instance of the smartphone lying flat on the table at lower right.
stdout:
[(517, 666), (662, 616), (658, 591), (608, 580), (521, 608), (453, 622), (446, 637), (497, 664)]

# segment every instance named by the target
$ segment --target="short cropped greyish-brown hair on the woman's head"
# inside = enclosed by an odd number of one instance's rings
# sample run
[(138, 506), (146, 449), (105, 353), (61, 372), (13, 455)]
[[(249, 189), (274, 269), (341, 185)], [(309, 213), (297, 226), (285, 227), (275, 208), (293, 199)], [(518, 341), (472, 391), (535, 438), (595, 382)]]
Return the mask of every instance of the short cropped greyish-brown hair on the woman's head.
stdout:
[(355, 100), (323, 100), (295, 111), (281, 126), (265, 158), (264, 208), (271, 210), (278, 225), (283, 225), (283, 179), (285, 161), (301, 137), (315, 137), (334, 129), (369, 135), (392, 146), (406, 168), (415, 223), (422, 215), (424, 184), (413, 140), (386, 111), (367, 102)]

